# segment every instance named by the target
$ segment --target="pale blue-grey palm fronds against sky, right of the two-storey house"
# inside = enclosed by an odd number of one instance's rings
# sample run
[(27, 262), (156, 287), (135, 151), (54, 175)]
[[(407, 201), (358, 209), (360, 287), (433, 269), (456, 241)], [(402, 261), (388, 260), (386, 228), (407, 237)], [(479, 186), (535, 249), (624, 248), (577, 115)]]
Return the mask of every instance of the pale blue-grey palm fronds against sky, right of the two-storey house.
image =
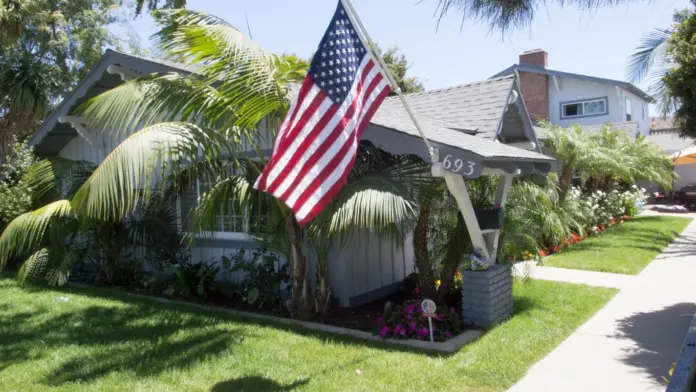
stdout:
[(668, 53), (669, 37), (674, 30), (655, 29), (641, 38), (640, 45), (629, 58), (626, 67), (626, 79), (631, 83), (648, 83), (648, 93), (655, 97), (658, 109), (664, 115), (676, 109), (669, 90), (663, 82), (664, 76), (676, 64)]

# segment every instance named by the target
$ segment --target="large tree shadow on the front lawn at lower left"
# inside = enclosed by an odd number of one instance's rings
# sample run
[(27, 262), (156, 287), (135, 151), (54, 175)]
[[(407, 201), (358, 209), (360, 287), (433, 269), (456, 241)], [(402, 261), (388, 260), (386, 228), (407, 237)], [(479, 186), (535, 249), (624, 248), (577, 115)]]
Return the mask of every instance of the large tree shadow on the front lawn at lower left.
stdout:
[(145, 304), (90, 306), (51, 318), (7, 306), (0, 313), (0, 370), (67, 345), (81, 347), (79, 356), (66, 358), (45, 377), (43, 382), (52, 386), (89, 382), (115, 371), (146, 377), (186, 368), (252, 336), (249, 330), (214, 329), (208, 318)]

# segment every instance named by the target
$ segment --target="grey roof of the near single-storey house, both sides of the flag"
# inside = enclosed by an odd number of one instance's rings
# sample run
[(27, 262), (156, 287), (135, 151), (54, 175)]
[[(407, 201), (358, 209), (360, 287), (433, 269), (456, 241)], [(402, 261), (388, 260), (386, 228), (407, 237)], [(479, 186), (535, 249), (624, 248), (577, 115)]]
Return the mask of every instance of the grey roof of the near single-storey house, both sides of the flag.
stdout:
[[(118, 65), (118, 69), (111, 68)], [(197, 73), (194, 67), (169, 61), (133, 56), (107, 50), (92, 71), (68, 94), (54, 113), (41, 125), (31, 139), (40, 156), (57, 155), (78, 133), (69, 124), (59, 122), (79, 104), (97, 94), (123, 83), (119, 75), (131, 72), (147, 75), (155, 72)], [(542, 171), (548, 172), (553, 159), (533, 151), (499, 143), (526, 140), (537, 146), (529, 115), (521, 99), (511, 100), (518, 92), (516, 75), (488, 79), (452, 88), (408, 94), (405, 99), (416, 113), (428, 139), (445, 150), (457, 149), (472, 154), (481, 162), (525, 161), (543, 163)], [(509, 102), (512, 101), (512, 102)], [(508, 110), (514, 108), (515, 110)], [(511, 120), (512, 118), (512, 120)], [(385, 100), (372, 121), (384, 130), (395, 131), (403, 137), (418, 136), (418, 131), (408, 117), (398, 97)], [(504, 126), (505, 125), (505, 126)], [(388, 143), (399, 143), (400, 138)], [(422, 144), (422, 141), (419, 141)], [(385, 147), (389, 147), (385, 144)], [(420, 150), (421, 145), (418, 146)]]

